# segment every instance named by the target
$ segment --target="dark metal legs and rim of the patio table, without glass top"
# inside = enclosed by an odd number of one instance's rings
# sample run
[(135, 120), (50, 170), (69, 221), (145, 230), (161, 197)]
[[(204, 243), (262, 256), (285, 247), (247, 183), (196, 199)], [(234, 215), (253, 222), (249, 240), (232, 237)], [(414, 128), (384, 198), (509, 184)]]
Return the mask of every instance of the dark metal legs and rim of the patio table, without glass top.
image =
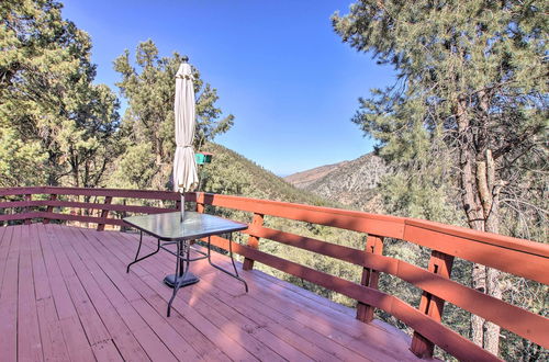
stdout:
[[(186, 213), (190, 213), (190, 212), (186, 212)], [(179, 214), (179, 212), (178, 212)], [(213, 215), (210, 215), (210, 216), (213, 216)], [(216, 216), (214, 216), (216, 217)], [(189, 275), (193, 275), (191, 272), (189, 272), (189, 267), (190, 267), (190, 263), (193, 262), (193, 261), (199, 261), (199, 260), (203, 260), (203, 259), (208, 259), (208, 262), (210, 263), (210, 265), (212, 265), (213, 268), (224, 272), (225, 274), (227, 275), (231, 275), (237, 280), (239, 280), (240, 282), (244, 283), (244, 286), (245, 286), (245, 290), (246, 290), (246, 293), (248, 293), (248, 283), (246, 283), (246, 281), (244, 279), (240, 278), (240, 275), (238, 274), (238, 270), (236, 269), (236, 264), (235, 264), (235, 260), (234, 260), (234, 256), (233, 256), (233, 233), (234, 231), (240, 231), (240, 230), (244, 230), (246, 229), (248, 226), (246, 224), (240, 224), (242, 226), (239, 228), (231, 228), (229, 230), (216, 230), (216, 231), (213, 231), (213, 233), (205, 233), (205, 234), (200, 234), (200, 235), (193, 235), (193, 236), (180, 236), (180, 237), (163, 237), (161, 235), (158, 235), (158, 234), (154, 234), (152, 233), (150, 230), (147, 230), (146, 228), (142, 227), (142, 226), (138, 226), (132, 222), (128, 222), (127, 219), (124, 219), (124, 222), (128, 225), (131, 225), (132, 227), (135, 227), (139, 230), (139, 246), (137, 247), (137, 252), (135, 254), (135, 259), (134, 261), (132, 261), (130, 264), (127, 264), (127, 268), (126, 268), (126, 273), (130, 272), (130, 267), (132, 267), (133, 264), (142, 261), (142, 260), (145, 260), (154, 254), (156, 254), (158, 251), (160, 251), (160, 249), (163, 250), (166, 250), (168, 251), (169, 253), (171, 253), (172, 256), (176, 257), (176, 274), (172, 274), (172, 275), (167, 275), (166, 279), (165, 279), (165, 283), (172, 286), (173, 287), (173, 293), (171, 294), (171, 298), (168, 303), (168, 310), (167, 310), (167, 316), (169, 317), (170, 316), (170, 312), (171, 312), (171, 304), (173, 303), (173, 299), (176, 298), (176, 295), (177, 295), (177, 292), (182, 287), (182, 286), (186, 286), (186, 285), (190, 285), (190, 284), (194, 284), (197, 283), (199, 280), (198, 278), (195, 278), (195, 280), (191, 280), (189, 282), (189, 279), (188, 276)], [(139, 251), (141, 251), (141, 247), (142, 247), (142, 244), (143, 244), (143, 233), (146, 233), (148, 235), (152, 235), (152, 236), (155, 236), (157, 238), (157, 248), (155, 251), (139, 258)], [(223, 269), (222, 267), (215, 264), (212, 262), (212, 258), (211, 258), (211, 237), (214, 236), (214, 235), (228, 235), (228, 254), (231, 257), (231, 262), (233, 264), (233, 269), (234, 269), (234, 273), (227, 271), (226, 269)], [(198, 249), (198, 248), (194, 248), (192, 247), (192, 241), (194, 240), (198, 240), (198, 239), (201, 239), (201, 238), (208, 238), (208, 248), (206, 248), (206, 252)], [(177, 247), (177, 251), (173, 252), (172, 250), (168, 249), (167, 246), (168, 245), (176, 245)], [(190, 252), (191, 250), (193, 250), (194, 252), (201, 254), (201, 257), (195, 257), (195, 258), (191, 258), (190, 257)], [(171, 282), (167, 282), (167, 280), (169, 280), (169, 278), (173, 278), (173, 285)]]

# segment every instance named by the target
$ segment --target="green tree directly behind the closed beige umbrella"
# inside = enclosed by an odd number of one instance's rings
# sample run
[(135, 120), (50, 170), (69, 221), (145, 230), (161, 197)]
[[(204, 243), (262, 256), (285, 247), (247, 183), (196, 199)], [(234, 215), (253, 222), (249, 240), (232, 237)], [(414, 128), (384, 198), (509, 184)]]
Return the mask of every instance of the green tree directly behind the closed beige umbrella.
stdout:
[[(135, 54), (135, 67), (130, 52), (114, 60), (114, 69), (122, 76), (116, 83), (128, 101), (123, 118), (125, 152), (111, 178), (114, 186), (166, 189), (176, 149), (173, 99), (176, 73), (182, 56), (160, 57), (153, 41), (141, 43)], [(194, 148), (227, 132), (233, 115), (221, 117), (215, 105), (217, 91), (204, 83), (193, 68), (197, 104)], [(148, 151), (147, 151), (148, 150)]]

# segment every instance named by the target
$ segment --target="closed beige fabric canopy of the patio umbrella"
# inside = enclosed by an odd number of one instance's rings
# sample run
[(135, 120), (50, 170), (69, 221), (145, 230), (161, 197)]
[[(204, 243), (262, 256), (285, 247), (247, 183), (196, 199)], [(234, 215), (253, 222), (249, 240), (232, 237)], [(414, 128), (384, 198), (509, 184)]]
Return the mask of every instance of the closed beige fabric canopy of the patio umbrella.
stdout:
[(176, 75), (176, 157), (173, 191), (190, 191), (199, 183), (194, 160), (194, 87), (191, 66), (182, 63)]

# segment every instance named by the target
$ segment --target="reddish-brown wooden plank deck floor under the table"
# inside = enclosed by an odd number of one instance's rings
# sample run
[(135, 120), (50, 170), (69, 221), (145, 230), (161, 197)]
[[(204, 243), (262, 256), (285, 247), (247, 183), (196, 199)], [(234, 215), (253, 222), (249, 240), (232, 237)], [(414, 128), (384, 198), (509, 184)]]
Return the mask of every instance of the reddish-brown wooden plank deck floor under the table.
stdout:
[(245, 294), (206, 261), (191, 265), (201, 281), (167, 318), (173, 257), (160, 251), (126, 274), (136, 248), (133, 234), (0, 227), (0, 361), (417, 360), (391, 326), (259, 271), (242, 272)]

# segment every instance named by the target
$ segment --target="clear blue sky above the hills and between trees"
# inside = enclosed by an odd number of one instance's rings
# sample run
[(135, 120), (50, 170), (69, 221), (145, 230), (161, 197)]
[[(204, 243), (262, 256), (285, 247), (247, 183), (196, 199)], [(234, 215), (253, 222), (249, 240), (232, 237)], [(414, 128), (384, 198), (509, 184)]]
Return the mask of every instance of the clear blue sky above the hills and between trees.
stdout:
[(216, 142), (277, 174), (355, 159), (372, 142), (350, 122), (358, 97), (393, 81), (391, 68), (343, 44), (329, 16), (350, 1), (66, 0), (64, 16), (91, 36), (98, 82), (112, 61), (152, 38), (187, 54), (235, 115)]

